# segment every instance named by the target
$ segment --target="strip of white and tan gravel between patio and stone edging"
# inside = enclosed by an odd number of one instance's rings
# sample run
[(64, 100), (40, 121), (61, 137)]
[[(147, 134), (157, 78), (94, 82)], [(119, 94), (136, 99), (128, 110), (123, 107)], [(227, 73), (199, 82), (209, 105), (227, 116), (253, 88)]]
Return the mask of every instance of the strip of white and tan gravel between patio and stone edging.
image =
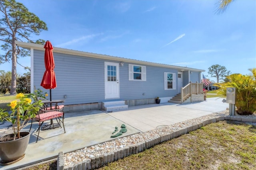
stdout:
[[(96, 144), (90, 147), (85, 147), (83, 149), (76, 150), (74, 152), (69, 152), (64, 154), (64, 166), (78, 164), (79, 162), (95, 158), (96, 156), (102, 156), (104, 155), (104, 153), (114, 152), (114, 150), (121, 149), (127, 146), (128, 147), (134, 146), (135, 144), (144, 142), (146, 140), (150, 140), (152, 138), (160, 136), (161, 134), (171, 133), (185, 127), (198, 125), (209, 119), (214, 119), (214, 118), (223, 117), (223, 116), (229, 116), (229, 112), (223, 111), (220, 113), (213, 113), (213, 114), (198, 117), (195, 119), (190, 119), (188, 121), (176, 123), (170, 126), (160, 126), (154, 130), (150, 130), (147, 132), (141, 132), (141, 133), (133, 134), (123, 138), (117, 138), (112, 141)], [(246, 117), (250, 119), (256, 119), (256, 114), (254, 113), (253, 115), (248, 115), (248, 116), (235, 115), (235, 117)]]

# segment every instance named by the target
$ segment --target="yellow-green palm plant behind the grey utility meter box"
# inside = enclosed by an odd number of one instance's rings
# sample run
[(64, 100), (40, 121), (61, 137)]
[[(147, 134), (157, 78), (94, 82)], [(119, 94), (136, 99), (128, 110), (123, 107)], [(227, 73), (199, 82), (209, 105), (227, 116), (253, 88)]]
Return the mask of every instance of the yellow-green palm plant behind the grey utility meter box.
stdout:
[(230, 81), (218, 83), (218, 93), (226, 96), (227, 87), (236, 87), (236, 113), (252, 115), (256, 111), (256, 68), (249, 69), (251, 75), (232, 74), (227, 76)]

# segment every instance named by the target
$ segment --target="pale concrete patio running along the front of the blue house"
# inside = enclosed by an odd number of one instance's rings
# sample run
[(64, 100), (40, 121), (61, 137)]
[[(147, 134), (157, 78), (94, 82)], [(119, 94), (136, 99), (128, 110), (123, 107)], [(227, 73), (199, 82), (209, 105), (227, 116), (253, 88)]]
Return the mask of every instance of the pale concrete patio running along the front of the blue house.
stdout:
[[(112, 113), (104, 113), (100, 110), (66, 113), (64, 119), (66, 133), (63, 128), (44, 130), (40, 132), (36, 143), (38, 124), (33, 123), (25, 157), (14, 164), (0, 166), (0, 169), (22, 169), (24, 166), (56, 158), (60, 151), (72, 152), (116, 139), (110, 136), (115, 127), (120, 127), (122, 124), (126, 125), (128, 131), (118, 138), (220, 112), (226, 108), (228, 108), (228, 103), (222, 103), (221, 98), (214, 97), (203, 102), (189, 104), (140, 105)], [(24, 130), (29, 130), (29, 127), (30, 125)], [(10, 129), (0, 135), (8, 132), (10, 133)]]

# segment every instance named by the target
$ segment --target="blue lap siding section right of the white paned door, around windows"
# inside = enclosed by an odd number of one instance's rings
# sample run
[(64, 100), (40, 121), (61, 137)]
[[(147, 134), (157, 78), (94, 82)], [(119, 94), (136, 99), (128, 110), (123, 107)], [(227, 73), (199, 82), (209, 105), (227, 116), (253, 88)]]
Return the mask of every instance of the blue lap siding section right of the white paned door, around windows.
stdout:
[[(178, 71), (176, 69), (145, 65), (146, 81), (129, 81), (128, 64), (124, 63), (124, 67), (120, 67), (121, 100), (170, 97), (178, 93)], [(164, 72), (176, 73), (176, 90), (164, 90)]]

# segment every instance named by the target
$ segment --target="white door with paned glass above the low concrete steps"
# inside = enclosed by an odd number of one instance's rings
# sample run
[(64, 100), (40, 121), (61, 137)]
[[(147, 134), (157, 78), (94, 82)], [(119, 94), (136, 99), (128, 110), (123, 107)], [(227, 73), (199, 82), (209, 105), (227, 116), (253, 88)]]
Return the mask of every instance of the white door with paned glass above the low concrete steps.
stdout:
[(105, 99), (119, 98), (119, 63), (105, 62)]

